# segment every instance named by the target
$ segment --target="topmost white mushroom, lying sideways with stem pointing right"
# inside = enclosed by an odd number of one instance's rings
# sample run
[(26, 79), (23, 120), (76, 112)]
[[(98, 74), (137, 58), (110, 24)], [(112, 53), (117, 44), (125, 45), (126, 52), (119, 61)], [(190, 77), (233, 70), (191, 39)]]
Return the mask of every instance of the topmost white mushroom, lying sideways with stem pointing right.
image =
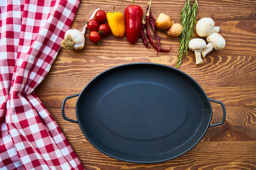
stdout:
[(219, 27), (214, 27), (214, 21), (211, 18), (201, 18), (196, 24), (196, 34), (200, 37), (207, 37), (211, 33), (218, 33)]

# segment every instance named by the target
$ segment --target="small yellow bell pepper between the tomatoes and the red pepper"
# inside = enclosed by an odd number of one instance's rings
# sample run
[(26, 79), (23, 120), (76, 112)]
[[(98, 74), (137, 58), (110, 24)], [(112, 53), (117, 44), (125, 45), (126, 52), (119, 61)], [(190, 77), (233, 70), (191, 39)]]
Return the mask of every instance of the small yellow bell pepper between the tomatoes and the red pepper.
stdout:
[(113, 13), (107, 13), (107, 21), (112, 34), (116, 37), (123, 37), (125, 34), (125, 21), (121, 12), (115, 12), (115, 6)]

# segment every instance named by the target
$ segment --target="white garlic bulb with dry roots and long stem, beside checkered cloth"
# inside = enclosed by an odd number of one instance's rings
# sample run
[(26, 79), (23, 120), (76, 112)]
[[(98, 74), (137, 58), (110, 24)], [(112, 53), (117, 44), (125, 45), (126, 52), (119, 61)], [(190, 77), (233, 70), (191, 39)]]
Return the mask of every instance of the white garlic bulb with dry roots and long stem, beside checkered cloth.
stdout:
[[(100, 8), (96, 9), (93, 12), (89, 20), (94, 18), (96, 12), (99, 11), (99, 9)], [(75, 50), (82, 49), (85, 43), (84, 34), (86, 29), (87, 29), (87, 23), (83, 27), (83, 31), (79, 31), (76, 29), (67, 30), (64, 35), (64, 40), (61, 41), (61, 46), (68, 51), (71, 51), (72, 49), (75, 49)]]

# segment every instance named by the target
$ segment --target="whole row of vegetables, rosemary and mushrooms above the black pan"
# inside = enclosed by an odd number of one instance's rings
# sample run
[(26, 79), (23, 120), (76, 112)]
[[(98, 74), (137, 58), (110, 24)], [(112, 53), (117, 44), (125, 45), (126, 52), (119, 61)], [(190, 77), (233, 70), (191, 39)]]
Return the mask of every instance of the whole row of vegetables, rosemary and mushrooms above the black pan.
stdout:
[[(196, 64), (203, 61), (205, 57), (213, 49), (220, 50), (225, 47), (225, 39), (218, 34), (219, 27), (214, 26), (214, 21), (211, 18), (200, 19), (196, 26), (196, 13), (198, 8), (197, 0), (193, 2), (191, 0), (185, 0), (184, 6), (180, 13), (180, 24), (174, 23), (168, 15), (160, 13), (157, 20), (151, 13), (151, 0), (147, 4), (146, 20), (143, 18), (143, 9), (139, 5), (134, 5), (135, 0), (131, 5), (128, 5), (124, 10), (124, 15), (121, 12), (115, 12), (115, 5), (113, 12), (105, 13), (100, 8), (96, 9), (91, 15), (88, 22), (83, 27), (83, 31), (70, 29), (65, 33), (64, 40), (61, 42), (61, 46), (67, 50), (79, 50), (84, 47), (85, 37), (84, 34), (88, 28), (89, 39), (95, 44), (100, 44), (101, 37), (107, 36), (110, 32), (115, 37), (124, 37), (131, 44), (135, 44), (139, 37), (143, 44), (150, 48), (149, 43), (159, 52), (169, 52), (172, 49), (161, 48), (157, 29), (164, 31), (170, 37), (179, 36), (179, 52), (176, 67), (179, 67), (182, 61), (183, 54), (188, 55), (188, 48), (195, 53)], [(95, 19), (94, 19), (95, 17)], [(107, 21), (107, 23), (105, 23)], [(193, 31), (195, 26), (195, 32), (199, 37), (206, 37), (205, 40), (194, 38)], [(149, 41), (147, 41), (146, 36)], [(154, 38), (157, 44), (153, 41), (151, 36), (151, 30), (154, 33)]]

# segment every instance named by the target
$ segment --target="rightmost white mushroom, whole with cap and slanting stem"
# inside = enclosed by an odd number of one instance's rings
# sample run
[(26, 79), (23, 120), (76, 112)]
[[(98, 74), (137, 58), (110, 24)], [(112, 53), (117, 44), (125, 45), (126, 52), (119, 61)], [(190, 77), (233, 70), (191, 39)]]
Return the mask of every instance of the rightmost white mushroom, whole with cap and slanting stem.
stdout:
[(204, 58), (206, 54), (211, 52), (214, 49), (221, 50), (225, 47), (226, 41), (225, 39), (218, 33), (212, 33), (206, 38), (208, 44), (205, 49), (201, 52), (202, 57)]

